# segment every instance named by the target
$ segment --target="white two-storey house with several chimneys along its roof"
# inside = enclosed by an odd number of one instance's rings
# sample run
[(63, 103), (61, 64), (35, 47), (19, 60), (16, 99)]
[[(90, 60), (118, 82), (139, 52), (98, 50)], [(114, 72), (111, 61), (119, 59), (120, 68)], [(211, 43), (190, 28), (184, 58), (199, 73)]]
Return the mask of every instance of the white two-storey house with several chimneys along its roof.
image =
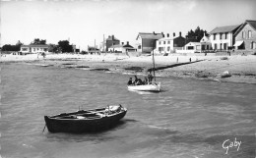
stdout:
[(173, 33), (173, 36), (170, 37), (169, 34), (166, 34), (166, 37), (160, 38), (156, 41), (156, 53), (160, 54), (166, 54), (166, 53), (175, 53), (176, 50), (182, 49), (182, 47), (185, 45), (185, 38), (181, 36), (181, 32), (179, 32), (179, 36), (175, 36), (175, 33)]

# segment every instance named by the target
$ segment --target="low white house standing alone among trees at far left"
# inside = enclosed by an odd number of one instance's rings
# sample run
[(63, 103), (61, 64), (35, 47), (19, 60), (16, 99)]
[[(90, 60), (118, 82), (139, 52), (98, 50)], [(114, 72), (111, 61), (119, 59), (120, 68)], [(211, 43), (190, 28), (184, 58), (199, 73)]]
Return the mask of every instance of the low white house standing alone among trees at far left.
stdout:
[(30, 45), (22, 45), (21, 50), (23, 54), (26, 53), (48, 53), (48, 45), (47, 44), (30, 44)]

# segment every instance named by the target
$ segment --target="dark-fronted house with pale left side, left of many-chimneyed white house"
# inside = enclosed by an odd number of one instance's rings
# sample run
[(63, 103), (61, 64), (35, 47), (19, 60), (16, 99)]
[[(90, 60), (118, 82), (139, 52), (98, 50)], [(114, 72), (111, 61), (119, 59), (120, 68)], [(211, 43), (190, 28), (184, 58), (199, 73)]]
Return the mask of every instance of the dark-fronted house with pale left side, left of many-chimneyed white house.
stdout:
[(163, 33), (139, 32), (136, 38), (136, 48), (138, 52), (150, 54), (156, 48), (156, 41), (163, 37)]

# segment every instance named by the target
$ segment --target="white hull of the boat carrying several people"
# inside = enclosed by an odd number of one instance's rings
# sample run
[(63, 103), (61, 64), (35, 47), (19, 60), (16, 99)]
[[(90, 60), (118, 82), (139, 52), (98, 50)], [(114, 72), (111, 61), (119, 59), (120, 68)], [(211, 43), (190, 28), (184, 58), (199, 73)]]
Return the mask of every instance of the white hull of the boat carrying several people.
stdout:
[(128, 90), (131, 91), (160, 91), (160, 82), (153, 84), (144, 84), (144, 85), (128, 85)]

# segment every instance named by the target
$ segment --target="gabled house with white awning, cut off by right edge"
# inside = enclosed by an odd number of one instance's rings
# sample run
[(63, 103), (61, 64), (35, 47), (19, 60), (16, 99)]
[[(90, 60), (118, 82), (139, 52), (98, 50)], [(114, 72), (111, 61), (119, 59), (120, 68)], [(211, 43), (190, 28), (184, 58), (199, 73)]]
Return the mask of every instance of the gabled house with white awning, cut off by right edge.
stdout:
[(245, 21), (234, 33), (235, 49), (256, 49), (256, 21)]

